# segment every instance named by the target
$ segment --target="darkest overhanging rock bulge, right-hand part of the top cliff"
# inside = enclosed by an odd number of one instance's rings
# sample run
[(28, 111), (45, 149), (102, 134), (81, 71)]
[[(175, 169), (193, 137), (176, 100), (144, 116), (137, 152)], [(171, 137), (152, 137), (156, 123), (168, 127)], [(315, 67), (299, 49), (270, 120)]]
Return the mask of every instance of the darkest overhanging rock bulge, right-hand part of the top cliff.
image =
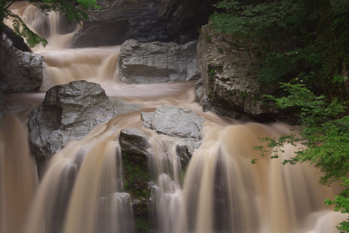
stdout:
[(159, 0), (158, 18), (164, 21), (168, 33), (178, 44), (198, 38), (198, 27), (208, 23), (217, 0)]

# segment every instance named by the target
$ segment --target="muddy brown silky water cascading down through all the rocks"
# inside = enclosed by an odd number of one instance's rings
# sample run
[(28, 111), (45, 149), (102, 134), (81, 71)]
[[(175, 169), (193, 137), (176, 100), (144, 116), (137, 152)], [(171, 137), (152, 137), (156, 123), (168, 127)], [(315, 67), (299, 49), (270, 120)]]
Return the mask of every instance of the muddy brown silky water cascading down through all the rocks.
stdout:
[[(186, 170), (167, 136), (145, 129), (140, 111), (118, 115), (71, 141), (47, 164), (38, 183), (26, 127), (29, 112), (44, 93), (6, 96), (10, 112), (0, 134), (0, 230), (3, 233), (133, 233), (130, 195), (123, 187), (119, 132), (139, 128), (150, 137), (149, 171), (155, 182), (155, 228), (162, 233), (335, 233), (345, 219), (322, 200), (338, 187), (321, 187), (306, 164), (282, 166), (252, 150), (258, 137), (287, 133), (286, 124), (240, 123), (194, 103), (190, 82), (154, 85), (118, 83), (119, 47), (68, 49), (78, 26), (45, 16), (26, 2), (13, 12), (50, 43), (34, 52), (44, 56), (43, 90), (85, 79), (100, 83), (110, 96), (141, 103), (142, 111), (160, 104), (187, 107), (205, 118), (203, 141)], [(165, 149), (167, 148), (167, 149)], [(285, 149), (285, 158), (293, 147)], [(333, 185), (335, 186), (335, 185)]]

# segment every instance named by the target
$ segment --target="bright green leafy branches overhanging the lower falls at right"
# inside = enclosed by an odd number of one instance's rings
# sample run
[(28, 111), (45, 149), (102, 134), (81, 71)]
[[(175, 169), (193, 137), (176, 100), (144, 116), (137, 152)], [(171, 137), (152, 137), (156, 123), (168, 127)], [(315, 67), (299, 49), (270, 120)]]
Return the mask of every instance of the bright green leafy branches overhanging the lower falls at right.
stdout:
[[(324, 95), (316, 96), (305, 85), (282, 83), (282, 88), (290, 94), (286, 97), (266, 98), (275, 101), (276, 107), (285, 109), (297, 107), (302, 126), (297, 131), (290, 130), (289, 134), (281, 134), (279, 138), (259, 138), (266, 146), (254, 146), (261, 151), (261, 157), (271, 155), (279, 158), (284, 153), (285, 144), (298, 147), (295, 156), (285, 159), (283, 165), (295, 165), (298, 162), (310, 162), (317, 167), (322, 176), (320, 184), (329, 185), (337, 180), (343, 180), (342, 185), (348, 186), (348, 178), (343, 178), (349, 172), (349, 116), (348, 102), (340, 102), (337, 98), (328, 101)], [(269, 152), (271, 150), (271, 152)], [(256, 163), (253, 159), (251, 163)], [(327, 205), (336, 204), (335, 211), (349, 213), (349, 189), (346, 188), (335, 201), (325, 200)], [(349, 232), (349, 221), (343, 221), (337, 227), (342, 232)]]

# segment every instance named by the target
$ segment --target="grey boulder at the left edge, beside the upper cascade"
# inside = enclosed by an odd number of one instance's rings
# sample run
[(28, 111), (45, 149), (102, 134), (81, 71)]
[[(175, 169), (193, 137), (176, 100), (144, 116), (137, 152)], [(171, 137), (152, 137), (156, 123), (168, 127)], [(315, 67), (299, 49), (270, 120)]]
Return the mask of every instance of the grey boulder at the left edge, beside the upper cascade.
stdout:
[(43, 57), (15, 48), (5, 33), (0, 43), (0, 87), (5, 93), (39, 90), (43, 80)]

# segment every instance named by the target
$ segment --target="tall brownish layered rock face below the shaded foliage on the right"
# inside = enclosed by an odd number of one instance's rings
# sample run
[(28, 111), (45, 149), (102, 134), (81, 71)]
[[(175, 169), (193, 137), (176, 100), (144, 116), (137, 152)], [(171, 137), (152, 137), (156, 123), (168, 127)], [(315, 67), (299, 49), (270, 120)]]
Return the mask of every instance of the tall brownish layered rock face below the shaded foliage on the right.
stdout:
[(291, 121), (263, 98), (262, 94), (272, 94), (277, 86), (266, 87), (257, 80), (261, 61), (239, 44), (231, 35), (202, 27), (197, 54), (201, 79), (194, 87), (195, 101), (204, 110), (237, 119)]

